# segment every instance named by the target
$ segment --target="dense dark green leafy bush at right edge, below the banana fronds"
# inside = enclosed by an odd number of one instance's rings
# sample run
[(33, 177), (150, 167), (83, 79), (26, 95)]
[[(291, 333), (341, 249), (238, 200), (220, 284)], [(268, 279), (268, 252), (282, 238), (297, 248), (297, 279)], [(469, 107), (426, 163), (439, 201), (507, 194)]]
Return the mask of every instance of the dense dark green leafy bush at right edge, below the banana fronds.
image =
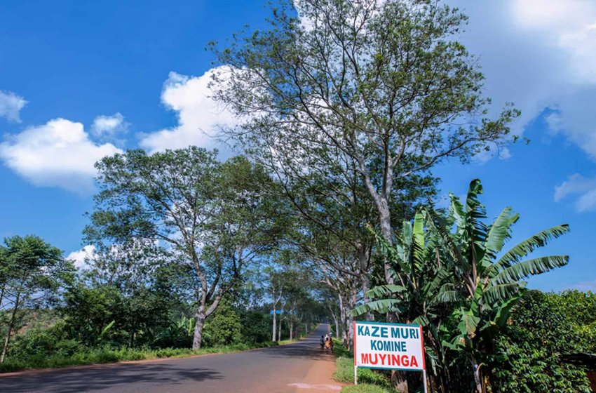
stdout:
[(530, 291), (516, 307), (490, 357), (494, 387), (510, 393), (589, 393), (585, 370), (558, 354), (596, 352), (596, 295)]

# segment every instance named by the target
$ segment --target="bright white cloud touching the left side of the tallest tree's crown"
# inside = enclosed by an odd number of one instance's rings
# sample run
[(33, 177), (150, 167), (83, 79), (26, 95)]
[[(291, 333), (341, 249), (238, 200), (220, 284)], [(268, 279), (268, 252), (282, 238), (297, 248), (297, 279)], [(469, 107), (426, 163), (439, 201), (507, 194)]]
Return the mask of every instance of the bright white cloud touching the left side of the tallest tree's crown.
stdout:
[(210, 69), (201, 76), (170, 72), (163, 84), (161, 102), (177, 112), (178, 125), (142, 135), (142, 147), (149, 152), (189, 145), (206, 147), (212, 143), (210, 135), (217, 133), (217, 126), (231, 123), (233, 115), (209, 96), (208, 84), (215, 70)]

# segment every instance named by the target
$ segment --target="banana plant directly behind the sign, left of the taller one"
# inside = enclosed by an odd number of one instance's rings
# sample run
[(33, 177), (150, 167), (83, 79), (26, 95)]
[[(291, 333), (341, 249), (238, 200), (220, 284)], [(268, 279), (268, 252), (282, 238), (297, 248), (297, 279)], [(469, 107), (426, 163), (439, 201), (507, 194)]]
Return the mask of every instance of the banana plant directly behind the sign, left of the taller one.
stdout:
[(440, 237), (435, 232), (425, 231), (427, 216), (423, 211), (416, 213), (413, 225), (403, 222), (395, 246), (369, 228), (379, 251), (391, 262), (393, 277), (399, 284), (372, 288), (367, 292), (372, 301), (356, 307), (351, 314), (357, 317), (365, 312), (393, 312), (403, 323), (421, 325), (427, 364), (431, 366), (433, 378), (445, 391), (448, 381), (439, 331), (445, 317), (442, 304), (454, 298), (453, 271), (448, 265), (441, 265)]

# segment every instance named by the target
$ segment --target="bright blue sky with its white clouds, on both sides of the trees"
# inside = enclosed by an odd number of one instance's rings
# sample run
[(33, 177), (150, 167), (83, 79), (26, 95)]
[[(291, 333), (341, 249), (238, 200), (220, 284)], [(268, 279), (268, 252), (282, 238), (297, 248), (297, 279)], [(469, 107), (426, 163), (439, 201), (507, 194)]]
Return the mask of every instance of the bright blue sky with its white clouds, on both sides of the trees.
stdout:
[[(486, 94), (495, 109), (522, 109), (514, 131), (531, 143), (436, 167), (442, 190), (482, 179), (491, 217), (521, 214), (514, 241), (569, 223), (545, 250), (569, 254), (569, 266), (530, 286), (595, 290), (596, 2), (447, 3), (470, 15), (461, 41), (480, 56)], [(231, 116), (207, 98), (205, 44), (264, 25), (263, 4), (1, 2), (0, 237), (39, 234), (81, 258), (94, 161), (126, 147), (214, 147), (199, 130)]]

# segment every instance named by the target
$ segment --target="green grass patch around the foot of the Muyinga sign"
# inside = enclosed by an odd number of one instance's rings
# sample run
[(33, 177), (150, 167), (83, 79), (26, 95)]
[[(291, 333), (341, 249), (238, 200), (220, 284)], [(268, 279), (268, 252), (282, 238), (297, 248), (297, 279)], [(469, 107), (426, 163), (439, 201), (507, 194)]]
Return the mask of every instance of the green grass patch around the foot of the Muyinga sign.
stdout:
[[(339, 382), (354, 382), (354, 355), (334, 339), (335, 373), (333, 378)], [(358, 385), (346, 386), (341, 393), (398, 393), (391, 386), (386, 372), (373, 371), (370, 368), (358, 368)]]

